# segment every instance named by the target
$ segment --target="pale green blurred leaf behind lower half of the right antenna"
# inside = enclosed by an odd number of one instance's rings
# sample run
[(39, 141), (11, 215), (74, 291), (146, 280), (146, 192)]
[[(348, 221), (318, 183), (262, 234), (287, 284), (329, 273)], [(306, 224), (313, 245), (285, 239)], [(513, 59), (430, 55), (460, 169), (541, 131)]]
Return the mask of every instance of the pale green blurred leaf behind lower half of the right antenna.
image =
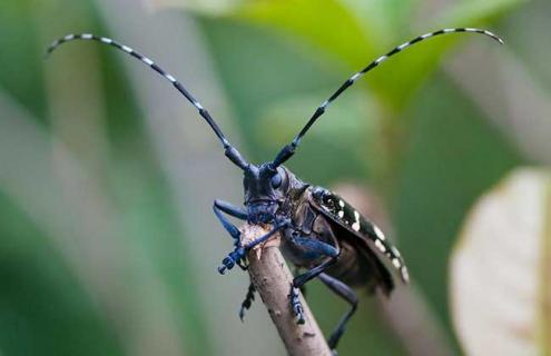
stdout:
[[(268, 106), (254, 122), (255, 137), (273, 152), (276, 152), (282, 142), (288, 141), (306, 118), (312, 116), (313, 108), (319, 105), (319, 98), (327, 95), (328, 90), (308, 95), (296, 95), (292, 98), (277, 100)], [(368, 117), (367, 119), (365, 117)], [(296, 166), (305, 164), (303, 159), (315, 159), (316, 168), (311, 168), (308, 175), (313, 181), (331, 181), (338, 172), (338, 179), (354, 177), (358, 170), (370, 171), (372, 160), (365, 159), (365, 152), (373, 152), (377, 142), (380, 120), (372, 100), (366, 100), (361, 92), (351, 92), (343, 98), (341, 105), (332, 108), (326, 117), (305, 138), (305, 144), (297, 155)], [(309, 158), (308, 158), (309, 157)], [(346, 160), (341, 159), (346, 157)], [(375, 158), (375, 157), (374, 157)], [(332, 162), (331, 170), (325, 164)], [(304, 176), (304, 179), (309, 179)]]

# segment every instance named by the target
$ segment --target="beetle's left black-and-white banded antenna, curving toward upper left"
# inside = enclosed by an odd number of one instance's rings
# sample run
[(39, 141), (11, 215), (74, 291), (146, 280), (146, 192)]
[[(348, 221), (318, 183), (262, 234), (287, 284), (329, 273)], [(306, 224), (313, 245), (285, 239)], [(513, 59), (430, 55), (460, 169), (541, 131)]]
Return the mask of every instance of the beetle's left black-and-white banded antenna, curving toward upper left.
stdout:
[(215, 135), (218, 137), (220, 140), (222, 145), (224, 146), (225, 155), (232, 160), (236, 166), (238, 166), (242, 169), (246, 169), (248, 164), (247, 161), (243, 158), (243, 156), (239, 154), (239, 151), (226, 139), (224, 134), (222, 132), (220, 128), (218, 125), (215, 122), (210, 113), (205, 109), (195, 97), (187, 91), (186, 88), (175, 78), (173, 77), (169, 72), (157, 66), (152, 60), (150, 60), (148, 57), (142, 56), (131, 49), (128, 46), (118, 43), (117, 41), (107, 38), (107, 37), (100, 37), (91, 33), (80, 33), (80, 34), (67, 34), (56, 41), (53, 41), (50, 47), (48, 47), (48, 50), (46, 51), (46, 56), (49, 56), (53, 50), (56, 50), (59, 46), (72, 41), (72, 40), (92, 40), (92, 41), (98, 41), (100, 43), (109, 44), (112, 46), (128, 55), (130, 55), (134, 58), (137, 58), (141, 62), (146, 63), (149, 66), (152, 70), (161, 75), (165, 79), (170, 81), (173, 86), (178, 90), (186, 99), (191, 102), (191, 105), (197, 109), (199, 115), (207, 121), (207, 123), (210, 126)]

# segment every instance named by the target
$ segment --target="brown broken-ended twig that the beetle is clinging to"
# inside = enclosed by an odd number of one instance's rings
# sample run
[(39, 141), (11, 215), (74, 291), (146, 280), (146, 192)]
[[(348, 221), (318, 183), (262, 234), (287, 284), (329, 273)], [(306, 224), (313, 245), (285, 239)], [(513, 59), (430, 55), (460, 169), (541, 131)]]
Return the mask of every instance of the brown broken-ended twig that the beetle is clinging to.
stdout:
[[(242, 241), (250, 241), (268, 230), (253, 225), (242, 228)], [(287, 353), (293, 356), (329, 356), (331, 350), (308, 305), (301, 295), (306, 323), (298, 325), (289, 307), (288, 294), (293, 275), (279, 251), (279, 235), (248, 254), (253, 285), (268, 309)]]

